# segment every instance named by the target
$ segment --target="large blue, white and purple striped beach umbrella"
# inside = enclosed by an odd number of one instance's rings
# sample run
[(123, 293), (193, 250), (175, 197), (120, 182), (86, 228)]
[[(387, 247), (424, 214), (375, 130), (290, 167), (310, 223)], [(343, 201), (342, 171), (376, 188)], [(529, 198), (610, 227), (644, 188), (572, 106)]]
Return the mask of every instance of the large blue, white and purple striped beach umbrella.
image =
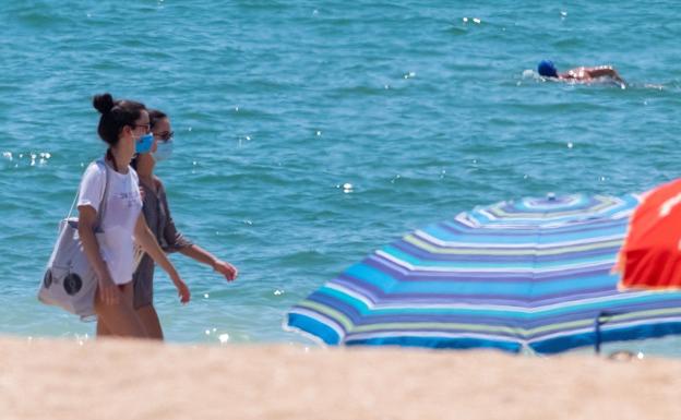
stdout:
[(637, 196), (478, 207), (416, 230), (326, 283), (286, 325), (328, 345), (554, 353), (681, 333), (681, 293), (619, 291)]

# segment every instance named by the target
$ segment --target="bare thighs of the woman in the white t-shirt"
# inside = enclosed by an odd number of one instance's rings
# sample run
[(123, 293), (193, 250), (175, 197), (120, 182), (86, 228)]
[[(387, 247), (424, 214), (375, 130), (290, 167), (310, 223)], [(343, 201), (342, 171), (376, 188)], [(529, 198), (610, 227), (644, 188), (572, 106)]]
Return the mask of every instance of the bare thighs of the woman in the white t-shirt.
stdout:
[(122, 286), (119, 291), (118, 304), (106, 304), (95, 295), (95, 312), (97, 312), (97, 335), (146, 338), (147, 334), (140, 317), (132, 308), (132, 281)]

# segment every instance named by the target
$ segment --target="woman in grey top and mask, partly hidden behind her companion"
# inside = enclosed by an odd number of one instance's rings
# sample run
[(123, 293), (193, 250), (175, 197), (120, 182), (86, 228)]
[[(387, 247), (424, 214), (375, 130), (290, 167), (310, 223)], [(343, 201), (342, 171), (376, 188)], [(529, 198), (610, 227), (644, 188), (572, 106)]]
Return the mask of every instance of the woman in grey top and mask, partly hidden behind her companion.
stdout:
[[(154, 176), (156, 163), (170, 157), (172, 151), (172, 131), (168, 116), (159, 110), (148, 111), (150, 124), (154, 134), (152, 153), (140, 154), (132, 161), (133, 168), (140, 177), (140, 189), (144, 195), (142, 208), (146, 224), (156, 236), (158, 244), (166, 252), (180, 252), (210, 265), (225, 276), (228, 281), (237, 277), (237, 268), (226, 261), (217, 259), (208, 251), (187, 240), (172, 221), (166, 190), (158, 177)], [(144, 254), (135, 273), (134, 307), (151, 338), (163, 339), (163, 329), (158, 314), (154, 309), (154, 261)]]

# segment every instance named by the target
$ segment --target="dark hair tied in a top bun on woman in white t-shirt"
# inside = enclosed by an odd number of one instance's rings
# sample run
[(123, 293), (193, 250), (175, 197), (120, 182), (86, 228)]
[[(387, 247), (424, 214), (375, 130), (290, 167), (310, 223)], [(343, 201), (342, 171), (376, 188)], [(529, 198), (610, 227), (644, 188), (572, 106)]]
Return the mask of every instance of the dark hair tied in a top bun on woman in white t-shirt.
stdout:
[(144, 104), (134, 100), (113, 100), (109, 93), (95, 95), (93, 106), (101, 113), (97, 133), (109, 146), (116, 146), (123, 127), (134, 125), (146, 109)]

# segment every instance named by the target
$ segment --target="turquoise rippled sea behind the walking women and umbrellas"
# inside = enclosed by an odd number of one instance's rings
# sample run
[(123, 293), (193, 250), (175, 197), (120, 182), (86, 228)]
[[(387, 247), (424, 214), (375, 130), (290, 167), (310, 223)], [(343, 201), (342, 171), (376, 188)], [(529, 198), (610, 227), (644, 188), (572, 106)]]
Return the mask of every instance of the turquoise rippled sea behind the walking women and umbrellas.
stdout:
[[(300, 341), (286, 310), (410, 229), (679, 177), (680, 38), (676, 1), (2, 1), (0, 334), (93, 335), (35, 292), (104, 151), (94, 94), (170, 115), (177, 225), (241, 273), (174, 256), (193, 301), (157, 276), (167, 338)], [(630, 85), (542, 82), (543, 58)]]

